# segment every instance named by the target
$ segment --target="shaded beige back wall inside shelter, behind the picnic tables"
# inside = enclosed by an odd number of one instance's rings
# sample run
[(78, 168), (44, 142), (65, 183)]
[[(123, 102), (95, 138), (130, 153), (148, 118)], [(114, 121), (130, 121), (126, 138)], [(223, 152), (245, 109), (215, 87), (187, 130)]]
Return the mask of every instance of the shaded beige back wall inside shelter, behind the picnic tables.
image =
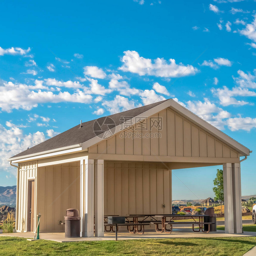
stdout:
[(104, 214), (169, 214), (171, 202), (171, 171), (162, 164), (104, 162)]

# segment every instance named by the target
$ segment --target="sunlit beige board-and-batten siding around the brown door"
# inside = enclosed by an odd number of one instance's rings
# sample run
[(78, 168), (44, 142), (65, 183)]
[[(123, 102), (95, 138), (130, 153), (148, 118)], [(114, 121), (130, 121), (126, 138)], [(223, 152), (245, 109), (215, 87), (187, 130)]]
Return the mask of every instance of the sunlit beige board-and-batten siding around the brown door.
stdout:
[[(28, 181), (35, 179), (35, 205), (37, 202), (37, 162), (22, 163), (18, 166), (16, 230), (26, 232), (28, 213)], [(36, 209), (34, 220), (36, 222)], [(34, 222), (34, 227), (35, 227)], [(33, 230), (31, 230), (33, 231)]]

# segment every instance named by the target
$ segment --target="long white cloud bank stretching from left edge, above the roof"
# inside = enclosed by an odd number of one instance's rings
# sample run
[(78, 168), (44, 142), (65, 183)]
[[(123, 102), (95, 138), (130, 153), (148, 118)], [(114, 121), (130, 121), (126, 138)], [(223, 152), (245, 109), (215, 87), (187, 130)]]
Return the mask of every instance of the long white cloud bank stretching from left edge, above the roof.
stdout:
[(90, 103), (92, 96), (81, 90), (74, 93), (68, 91), (53, 93), (52, 91), (38, 90), (35, 86), (13, 82), (4, 82), (0, 79), (0, 108), (11, 112), (12, 109), (31, 110), (43, 103), (79, 102)]

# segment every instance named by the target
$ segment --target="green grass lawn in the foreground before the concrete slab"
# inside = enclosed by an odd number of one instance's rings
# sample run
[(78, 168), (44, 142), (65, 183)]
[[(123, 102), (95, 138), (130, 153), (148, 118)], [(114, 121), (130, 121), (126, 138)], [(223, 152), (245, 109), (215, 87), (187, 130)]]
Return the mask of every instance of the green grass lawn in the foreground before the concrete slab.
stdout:
[(170, 255), (241, 256), (256, 246), (256, 237), (171, 238), (58, 243), (0, 237), (1, 255)]

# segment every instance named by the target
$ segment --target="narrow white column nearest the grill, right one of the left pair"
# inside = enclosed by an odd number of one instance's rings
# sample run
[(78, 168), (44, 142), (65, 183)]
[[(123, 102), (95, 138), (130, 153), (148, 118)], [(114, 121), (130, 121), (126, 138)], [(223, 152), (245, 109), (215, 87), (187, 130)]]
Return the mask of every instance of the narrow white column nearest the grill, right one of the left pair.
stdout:
[(95, 161), (95, 236), (104, 236), (104, 160)]

